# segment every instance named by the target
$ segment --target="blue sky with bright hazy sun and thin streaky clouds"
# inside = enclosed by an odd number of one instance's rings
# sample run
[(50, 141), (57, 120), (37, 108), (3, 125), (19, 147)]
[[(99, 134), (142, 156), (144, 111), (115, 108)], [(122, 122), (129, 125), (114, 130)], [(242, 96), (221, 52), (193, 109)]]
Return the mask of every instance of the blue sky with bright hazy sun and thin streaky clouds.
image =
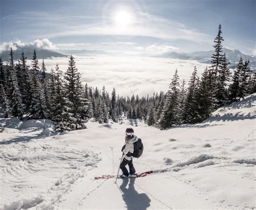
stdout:
[(255, 2), (2, 0), (0, 43), (3, 48), (14, 39), (23, 45), (39, 39), (55, 50), (190, 52), (212, 50), (221, 24), (224, 46), (252, 54)]

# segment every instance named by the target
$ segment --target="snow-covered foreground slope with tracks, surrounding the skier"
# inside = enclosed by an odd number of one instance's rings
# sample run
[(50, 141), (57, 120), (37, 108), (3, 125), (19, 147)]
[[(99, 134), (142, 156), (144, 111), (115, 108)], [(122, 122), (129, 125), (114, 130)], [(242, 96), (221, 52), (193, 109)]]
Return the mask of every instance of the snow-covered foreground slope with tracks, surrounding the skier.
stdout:
[[(255, 97), (168, 130), (123, 118), (57, 133), (48, 120), (1, 118), (0, 209), (256, 208)], [(144, 144), (134, 167), (154, 173), (95, 180), (117, 174), (128, 126)]]

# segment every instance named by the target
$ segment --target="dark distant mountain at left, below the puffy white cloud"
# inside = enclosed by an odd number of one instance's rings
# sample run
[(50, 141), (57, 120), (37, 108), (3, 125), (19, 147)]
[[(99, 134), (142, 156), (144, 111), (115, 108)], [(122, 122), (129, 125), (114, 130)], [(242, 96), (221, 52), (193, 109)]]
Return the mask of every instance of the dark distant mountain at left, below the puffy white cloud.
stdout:
[[(24, 52), (27, 59), (32, 59), (34, 49), (31, 48), (30, 46), (25, 46), (24, 48), (19, 48), (14, 51), (14, 59), (15, 60), (18, 60), (19, 58), (21, 58), (22, 51)], [(9, 53), (10, 53), (10, 51), (1, 52), (0, 58), (3, 61), (8, 61)], [(64, 55), (62, 53), (52, 51), (52, 50), (45, 50), (45, 49), (36, 49), (36, 55), (37, 55), (38, 59), (43, 59), (43, 58), (46, 59), (46, 58), (51, 58), (51, 57), (67, 57), (67, 55)]]

